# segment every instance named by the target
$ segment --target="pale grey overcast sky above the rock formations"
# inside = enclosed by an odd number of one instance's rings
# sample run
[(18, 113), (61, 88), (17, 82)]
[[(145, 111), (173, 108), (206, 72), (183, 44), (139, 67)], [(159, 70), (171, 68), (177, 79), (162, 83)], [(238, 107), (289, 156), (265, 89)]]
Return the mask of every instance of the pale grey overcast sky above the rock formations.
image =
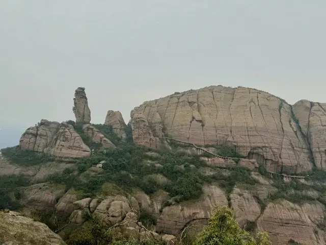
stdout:
[(1, 0), (0, 148), (74, 120), (210, 85), (326, 102), (324, 0)]

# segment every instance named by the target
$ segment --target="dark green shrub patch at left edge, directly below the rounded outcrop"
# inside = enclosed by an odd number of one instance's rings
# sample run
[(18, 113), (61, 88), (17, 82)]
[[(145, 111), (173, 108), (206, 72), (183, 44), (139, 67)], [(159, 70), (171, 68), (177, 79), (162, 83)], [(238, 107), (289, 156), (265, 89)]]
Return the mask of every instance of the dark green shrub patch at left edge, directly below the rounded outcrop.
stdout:
[(54, 157), (44, 153), (23, 150), (19, 147), (19, 145), (4, 148), (0, 151), (4, 157), (8, 158), (12, 163), (19, 166), (32, 166), (54, 160)]

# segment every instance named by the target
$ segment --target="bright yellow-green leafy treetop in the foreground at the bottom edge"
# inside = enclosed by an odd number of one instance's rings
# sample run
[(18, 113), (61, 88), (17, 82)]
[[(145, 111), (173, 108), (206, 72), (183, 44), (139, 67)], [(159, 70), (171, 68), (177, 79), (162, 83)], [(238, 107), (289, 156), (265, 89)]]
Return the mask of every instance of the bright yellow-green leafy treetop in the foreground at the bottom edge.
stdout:
[(240, 228), (233, 214), (233, 210), (227, 206), (216, 208), (195, 245), (271, 245), (266, 232), (251, 237), (249, 232)]

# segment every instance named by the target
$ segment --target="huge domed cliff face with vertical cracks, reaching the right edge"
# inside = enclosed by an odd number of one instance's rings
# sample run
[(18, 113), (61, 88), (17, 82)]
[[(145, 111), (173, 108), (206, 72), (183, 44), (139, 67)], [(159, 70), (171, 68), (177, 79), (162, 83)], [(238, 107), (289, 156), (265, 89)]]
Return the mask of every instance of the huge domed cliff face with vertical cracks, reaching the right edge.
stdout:
[(144, 102), (130, 115), (136, 143), (158, 148), (160, 137), (171, 137), (233, 144), (268, 171), (303, 173), (313, 166), (311, 152), (317, 167), (326, 164), (326, 143), (320, 142), (326, 135), (325, 107), (315, 104), (310, 110), (310, 102), (298, 102), (292, 109), (266, 92), (211, 86)]

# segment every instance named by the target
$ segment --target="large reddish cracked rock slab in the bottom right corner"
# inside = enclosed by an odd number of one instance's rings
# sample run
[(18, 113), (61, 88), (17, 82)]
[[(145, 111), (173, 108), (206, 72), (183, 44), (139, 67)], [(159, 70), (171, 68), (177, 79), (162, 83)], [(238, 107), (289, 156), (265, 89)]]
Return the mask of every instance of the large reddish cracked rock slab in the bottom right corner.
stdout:
[(299, 244), (326, 244), (325, 207), (321, 203), (292, 204), (288, 201), (269, 203), (257, 221), (259, 231), (267, 231), (273, 244), (286, 245), (293, 239)]

